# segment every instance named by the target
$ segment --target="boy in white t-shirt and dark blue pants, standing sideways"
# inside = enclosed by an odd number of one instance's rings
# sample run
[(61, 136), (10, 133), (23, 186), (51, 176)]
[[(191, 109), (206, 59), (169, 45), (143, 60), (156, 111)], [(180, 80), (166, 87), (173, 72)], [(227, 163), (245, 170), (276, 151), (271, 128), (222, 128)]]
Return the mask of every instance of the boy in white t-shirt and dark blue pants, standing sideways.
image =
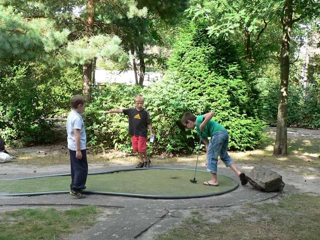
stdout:
[(88, 173), (86, 159), (86, 134), (84, 122), (80, 113), (84, 112), (86, 99), (81, 95), (74, 95), (70, 99), (72, 110), (66, 120), (67, 143), (70, 153), (71, 184), (70, 194), (78, 198), (85, 198), (81, 193), (85, 189)]

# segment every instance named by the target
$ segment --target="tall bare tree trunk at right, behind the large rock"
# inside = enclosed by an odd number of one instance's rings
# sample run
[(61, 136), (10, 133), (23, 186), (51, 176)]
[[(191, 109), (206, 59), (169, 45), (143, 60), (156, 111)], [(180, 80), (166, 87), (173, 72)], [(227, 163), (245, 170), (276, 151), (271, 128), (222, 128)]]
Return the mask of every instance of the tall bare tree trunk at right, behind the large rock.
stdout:
[(286, 124), (288, 108), (290, 33), (292, 27), (292, 0), (285, 0), (284, 16), (281, 19), (281, 22), (283, 26), (283, 32), (281, 44), (280, 91), (273, 154), (287, 155)]

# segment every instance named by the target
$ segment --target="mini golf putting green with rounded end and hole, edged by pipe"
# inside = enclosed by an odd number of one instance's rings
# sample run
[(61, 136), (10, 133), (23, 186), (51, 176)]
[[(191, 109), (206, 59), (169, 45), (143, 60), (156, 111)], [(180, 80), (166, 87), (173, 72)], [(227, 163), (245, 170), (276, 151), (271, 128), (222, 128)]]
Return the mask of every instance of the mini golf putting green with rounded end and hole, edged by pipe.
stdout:
[[(234, 190), (238, 182), (218, 174), (219, 186), (205, 186), (207, 171), (186, 168), (134, 168), (111, 172), (89, 173), (87, 193), (136, 196), (148, 198), (191, 198), (218, 195)], [(69, 174), (0, 179), (0, 195), (40, 195), (69, 192)]]

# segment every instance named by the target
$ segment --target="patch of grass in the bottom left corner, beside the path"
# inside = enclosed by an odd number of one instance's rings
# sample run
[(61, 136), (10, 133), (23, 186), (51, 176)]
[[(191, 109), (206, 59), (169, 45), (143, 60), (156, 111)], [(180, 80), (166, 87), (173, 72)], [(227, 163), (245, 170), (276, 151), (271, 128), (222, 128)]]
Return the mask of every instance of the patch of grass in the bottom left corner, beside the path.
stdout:
[(24, 208), (0, 212), (1, 240), (59, 239), (95, 224), (102, 212), (95, 206), (57, 210), (55, 208)]

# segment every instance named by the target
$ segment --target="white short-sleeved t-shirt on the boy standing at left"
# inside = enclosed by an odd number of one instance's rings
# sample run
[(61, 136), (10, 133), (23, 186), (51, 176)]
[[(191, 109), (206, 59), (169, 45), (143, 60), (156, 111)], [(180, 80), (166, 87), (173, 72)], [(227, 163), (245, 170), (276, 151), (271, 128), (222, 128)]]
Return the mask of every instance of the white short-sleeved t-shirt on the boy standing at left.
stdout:
[(86, 144), (86, 134), (84, 128), (84, 122), (82, 116), (77, 113), (75, 110), (69, 112), (68, 118), (66, 120), (66, 133), (67, 133), (67, 142), (68, 148), (75, 151), (75, 135), (74, 129), (80, 130), (80, 150), (84, 150)]

